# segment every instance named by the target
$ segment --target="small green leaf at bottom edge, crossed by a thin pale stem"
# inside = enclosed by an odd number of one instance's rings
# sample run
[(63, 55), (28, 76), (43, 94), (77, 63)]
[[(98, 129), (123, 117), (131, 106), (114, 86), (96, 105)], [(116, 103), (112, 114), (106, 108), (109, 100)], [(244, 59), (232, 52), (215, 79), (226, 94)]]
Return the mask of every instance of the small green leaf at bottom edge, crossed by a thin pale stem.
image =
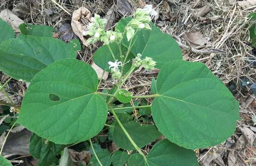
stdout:
[[(102, 166), (110, 166), (112, 159), (111, 154), (108, 150), (103, 149), (96, 152), (98, 159), (100, 160)], [(96, 159), (95, 155), (92, 154), (92, 158), (88, 164), (88, 166), (100, 166), (98, 160)]]

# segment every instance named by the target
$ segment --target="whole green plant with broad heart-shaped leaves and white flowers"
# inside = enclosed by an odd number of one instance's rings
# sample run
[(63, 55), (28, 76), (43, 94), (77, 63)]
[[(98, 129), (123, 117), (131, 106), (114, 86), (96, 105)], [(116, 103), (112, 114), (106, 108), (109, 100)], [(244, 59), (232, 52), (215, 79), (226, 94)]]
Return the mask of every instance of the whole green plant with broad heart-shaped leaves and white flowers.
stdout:
[[(107, 92), (99, 92), (101, 80), (92, 67), (75, 59), (77, 41), (67, 44), (51, 38), (53, 29), (38, 25), (21, 25), (23, 34), (14, 39), (11, 27), (0, 22), (7, 34), (0, 44), (0, 70), (31, 82), (17, 123), (34, 133), (30, 153), (40, 165), (56, 160), (63, 145), (89, 140), (89, 165), (110, 166), (112, 161), (114, 166), (198, 166), (193, 149), (232, 135), (238, 101), (204, 64), (183, 61), (176, 41), (151, 23), (149, 12), (138, 9), (134, 18), (121, 19), (115, 31), (105, 31), (107, 20), (98, 15), (92, 20), (84, 34), (91, 36), (88, 44), (104, 42), (93, 60), (115, 81)], [(47, 37), (38, 30), (45, 30)], [(141, 65), (160, 71), (157, 80), (152, 79), (151, 95), (134, 96), (122, 87)], [(143, 102), (148, 98), (152, 104)], [(153, 119), (134, 119), (135, 109)], [(107, 120), (108, 113), (115, 119)], [(103, 129), (109, 129), (109, 139), (119, 148), (133, 153), (117, 151), (111, 157), (107, 150), (95, 150), (91, 138)], [(166, 139), (148, 154), (141, 150), (162, 134)]]

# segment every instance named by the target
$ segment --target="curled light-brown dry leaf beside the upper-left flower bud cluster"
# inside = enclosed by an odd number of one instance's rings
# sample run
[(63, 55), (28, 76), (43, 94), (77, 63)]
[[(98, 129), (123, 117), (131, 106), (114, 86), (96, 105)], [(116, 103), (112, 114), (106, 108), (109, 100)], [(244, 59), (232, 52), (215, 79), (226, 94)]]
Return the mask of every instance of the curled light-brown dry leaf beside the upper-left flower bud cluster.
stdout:
[[(83, 20), (83, 21), (82, 21)], [(91, 12), (85, 8), (80, 7), (78, 10), (75, 10), (72, 15), (71, 26), (82, 43), (87, 46), (86, 39), (83, 36), (83, 31), (88, 29), (88, 24), (91, 22)]]

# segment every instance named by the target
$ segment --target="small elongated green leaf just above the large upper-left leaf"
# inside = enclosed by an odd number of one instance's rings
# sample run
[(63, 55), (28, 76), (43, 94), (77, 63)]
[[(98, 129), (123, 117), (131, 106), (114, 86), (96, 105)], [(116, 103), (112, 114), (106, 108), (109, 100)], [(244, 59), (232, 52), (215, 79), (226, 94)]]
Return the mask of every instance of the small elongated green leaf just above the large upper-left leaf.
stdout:
[(20, 24), (18, 26), (19, 30), (24, 35), (32, 35), (39, 37), (52, 37), (53, 32), (56, 31), (51, 26), (46, 25), (33, 25), (33, 24)]

